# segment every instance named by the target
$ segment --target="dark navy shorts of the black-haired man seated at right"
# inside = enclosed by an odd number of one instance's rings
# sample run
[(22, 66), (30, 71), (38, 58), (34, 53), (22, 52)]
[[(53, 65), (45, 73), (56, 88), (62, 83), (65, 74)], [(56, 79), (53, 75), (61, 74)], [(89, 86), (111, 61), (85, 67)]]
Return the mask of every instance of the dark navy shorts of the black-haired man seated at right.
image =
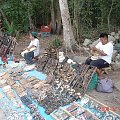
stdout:
[(100, 68), (105, 68), (105, 67), (109, 67), (109, 63), (107, 63), (105, 60), (103, 59), (97, 59), (97, 60), (91, 60), (90, 58), (88, 58), (85, 61), (85, 64), (90, 65), (90, 66), (95, 66), (98, 69)]

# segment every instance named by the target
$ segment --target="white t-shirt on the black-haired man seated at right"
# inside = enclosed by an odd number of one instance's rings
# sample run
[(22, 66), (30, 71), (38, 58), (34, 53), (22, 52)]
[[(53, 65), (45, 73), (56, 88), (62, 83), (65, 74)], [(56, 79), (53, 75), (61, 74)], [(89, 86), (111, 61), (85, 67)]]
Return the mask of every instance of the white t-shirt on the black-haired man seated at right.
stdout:
[(101, 42), (99, 42), (96, 45), (96, 48), (103, 50), (104, 53), (106, 53), (106, 56), (100, 56), (100, 59), (105, 60), (109, 64), (112, 61), (112, 54), (113, 54), (113, 44), (111, 42), (108, 42), (107, 44), (103, 45)]

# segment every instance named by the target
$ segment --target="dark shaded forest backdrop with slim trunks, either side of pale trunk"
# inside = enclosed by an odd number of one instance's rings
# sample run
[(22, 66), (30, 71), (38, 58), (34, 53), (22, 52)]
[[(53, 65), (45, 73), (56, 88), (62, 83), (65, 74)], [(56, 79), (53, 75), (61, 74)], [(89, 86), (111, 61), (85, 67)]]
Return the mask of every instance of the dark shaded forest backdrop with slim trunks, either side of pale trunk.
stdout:
[[(117, 31), (120, 26), (120, 0), (66, 0), (74, 38), (78, 44), (97, 32)], [(0, 19), (4, 31), (38, 30), (51, 24), (54, 34), (62, 33), (59, 0), (1, 0)], [(17, 31), (17, 32), (16, 32)]]

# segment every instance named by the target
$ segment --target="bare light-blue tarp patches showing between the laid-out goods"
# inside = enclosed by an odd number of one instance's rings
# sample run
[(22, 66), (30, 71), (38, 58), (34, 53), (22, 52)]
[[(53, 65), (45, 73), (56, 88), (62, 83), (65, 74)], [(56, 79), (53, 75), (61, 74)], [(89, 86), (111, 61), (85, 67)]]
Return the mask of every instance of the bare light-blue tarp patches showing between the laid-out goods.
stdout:
[[(0, 63), (2, 63), (1, 59), (0, 59)], [(12, 62), (12, 61), (9, 61), (8, 63), (12, 66), (12, 63), (13, 63), (13, 62)], [(0, 69), (0, 71), (3, 71), (3, 70)], [(26, 73), (28, 73), (29, 77), (34, 76), (34, 77), (38, 78), (39, 80), (45, 80), (46, 77), (47, 77), (47, 75), (45, 75), (45, 74), (43, 74), (43, 73), (41, 73), (41, 72), (38, 72), (38, 71), (36, 71), (36, 70), (28, 71), (28, 72), (26, 72)], [(2, 93), (3, 96), (4, 96), (4, 98), (2, 98), (2, 99), (4, 99), (3, 101), (6, 101), (8, 98), (7, 98), (7, 96), (4, 94), (4, 92), (2, 91), (2, 89), (0, 89), (0, 93)], [(2, 102), (2, 99), (0, 99), (0, 104), (1, 104), (1, 102)], [(19, 99), (20, 99), (20, 98), (19, 98)], [(8, 100), (9, 100), (9, 99), (8, 99)], [(37, 110), (40, 112), (41, 116), (42, 116), (45, 120), (53, 120), (53, 118), (52, 118), (50, 115), (47, 115), (47, 114), (45, 113), (45, 109), (44, 109), (43, 107), (41, 107), (40, 105), (38, 105), (37, 102), (35, 102), (35, 101), (32, 100), (32, 103), (37, 106)], [(99, 117), (99, 118), (103, 115), (103, 112), (100, 112), (99, 109), (94, 109), (94, 108), (91, 109), (88, 104), (83, 104), (82, 101), (77, 101), (77, 103), (78, 103), (81, 107), (83, 107), (84, 109), (92, 112), (95, 116), (97, 116), (97, 117)], [(9, 106), (11, 107), (11, 109), (13, 109), (13, 110), (14, 110), (14, 109), (17, 109), (17, 108), (14, 107), (14, 105), (12, 105), (12, 101), (9, 100), (8, 104), (9, 104)], [(69, 106), (69, 105), (68, 105), (68, 106)], [(67, 106), (64, 106), (64, 107), (67, 107)], [(0, 106), (0, 108), (2, 108), (2, 106)], [(4, 106), (3, 106), (2, 109), (5, 109)], [(25, 106), (25, 110), (28, 110), (28, 111), (29, 111), (29, 109), (28, 109), (26, 106)], [(3, 110), (3, 111), (4, 111), (4, 110)], [(18, 111), (19, 111), (19, 108), (18, 108)], [(106, 113), (107, 113), (107, 112), (106, 112)], [(24, 114), (24, 113), (23, 113), (23, 114)], [(113, 115), (113, 116), (114, 116), (114, 115)], [(26, 120), (26, 118), (25, 118), (25, 120)], [(101, 120), (103, 120), (103, 119), (101, 118)]]

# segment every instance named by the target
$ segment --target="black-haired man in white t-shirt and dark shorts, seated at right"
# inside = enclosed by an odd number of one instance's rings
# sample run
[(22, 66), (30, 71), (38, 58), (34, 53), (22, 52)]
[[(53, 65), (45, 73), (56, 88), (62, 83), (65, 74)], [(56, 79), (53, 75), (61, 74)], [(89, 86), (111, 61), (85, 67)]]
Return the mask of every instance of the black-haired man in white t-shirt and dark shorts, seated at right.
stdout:
[(108, 34), (100, 34), (100, 42), (91, 48), (93, 52), (99, 54), (98, 59), (88, 58), (85, 64), (97, 67), (98, 77), (101, 78), (101, 68), (109, 67), (112, 60), (113, 45), (108, 41)]

